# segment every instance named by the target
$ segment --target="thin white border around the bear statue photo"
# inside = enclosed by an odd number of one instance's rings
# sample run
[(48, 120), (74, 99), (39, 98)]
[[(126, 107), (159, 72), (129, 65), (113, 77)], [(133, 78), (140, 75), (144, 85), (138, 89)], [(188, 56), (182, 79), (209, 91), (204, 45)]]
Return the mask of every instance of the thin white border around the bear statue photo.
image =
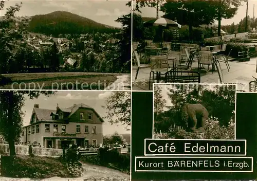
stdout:
[[(236, 88), (237, 84), (219, 84), (219, 83), (153, 83), (153, 136), (154, 139), (154, 86), (155, 85), (235, 85), (235, 126), (234, 126), (234, 140), (236, 140)], [(240, 92), (242, 93), (242, 92)]]

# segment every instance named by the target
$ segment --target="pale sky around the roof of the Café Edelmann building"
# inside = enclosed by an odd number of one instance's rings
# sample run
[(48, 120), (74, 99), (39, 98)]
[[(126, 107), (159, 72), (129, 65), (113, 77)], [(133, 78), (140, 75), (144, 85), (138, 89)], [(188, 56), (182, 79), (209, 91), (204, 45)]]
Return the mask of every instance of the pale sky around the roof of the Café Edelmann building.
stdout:
[[(107, 112), (102, 108), (102, 105), (105, 105), (107, 97), (111, 94), (113, 94), (113, 92), (109, 91), (58, 91), (50, 97), (40, 95), (38, 99), (29, 99), (29, 97), (26, 96), (25, 104), (22, 107), (22, 111), (25, 113), (23, 125), (29, 124), (34, 104), (39, 104), (40, 108), (56, 110), (57, 104), (59, 107), (66, 108), (74, 104), (84, 103), (93, 107), (101, 117), (104, 117)], [(114, 134), (116, 131), (119, 134), (130, 134), (130, 131), (126, 131), (125, 126), (117, 124), (111, 125), (107, 119), (104, 119), (104, 121), (103, 135)]]

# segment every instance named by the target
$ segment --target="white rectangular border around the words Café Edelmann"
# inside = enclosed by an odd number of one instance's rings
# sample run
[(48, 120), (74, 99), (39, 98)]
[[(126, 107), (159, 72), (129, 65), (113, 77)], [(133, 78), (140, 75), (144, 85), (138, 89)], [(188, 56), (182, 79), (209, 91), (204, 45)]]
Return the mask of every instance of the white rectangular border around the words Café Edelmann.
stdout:
[[(245, 142), (245, 153), (242, 155), (242, 154), (237, 154), (237, 155), (231, 155), (231, 154), (146, 154), (146, 140), (169, 140), (169, 141), (172, 141), (172, 140), (194, 140), (194, 141), (244, 141)], [(178, 156), (246, 156), (246, 139), (151, 139), (151, 138), (145, 138), (144, 139), (144, 156), (151, 156), (151, 157), (154, 157), (154, 156), (175, 156), (175, 155), (178, 155)]]

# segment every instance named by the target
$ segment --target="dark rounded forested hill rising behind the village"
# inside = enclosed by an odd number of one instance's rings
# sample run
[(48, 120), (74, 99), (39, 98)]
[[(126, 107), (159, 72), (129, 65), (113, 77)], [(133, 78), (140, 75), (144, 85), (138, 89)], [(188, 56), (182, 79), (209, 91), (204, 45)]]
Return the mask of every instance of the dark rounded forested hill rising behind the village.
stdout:
[(85, 34), (94, 32), (116, 32), (118, 28), (97, 23), (86, 17), (66, 11), (54, 11), (49, 14), (31, 16), (28, 31), (52, 34)]

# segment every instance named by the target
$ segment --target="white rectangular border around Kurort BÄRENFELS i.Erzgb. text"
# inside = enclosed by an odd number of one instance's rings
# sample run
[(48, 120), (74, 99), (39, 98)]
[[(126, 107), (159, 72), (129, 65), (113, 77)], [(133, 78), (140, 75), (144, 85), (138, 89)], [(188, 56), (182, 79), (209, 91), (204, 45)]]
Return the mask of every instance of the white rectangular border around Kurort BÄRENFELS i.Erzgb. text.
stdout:
[[(137, 158), (248, 158), (251, 159), (251, 171), (210, 171), (210, 170), (137, 170)], [(135, 157), (135, 172), (253, 172), (253, 157), (216, 157), (216, 156), (212, 156), (212, 157), (196, 157), (196, 156), (179, 156), (179, 157), (171, 157), (171, 156), (136, 156)]]

